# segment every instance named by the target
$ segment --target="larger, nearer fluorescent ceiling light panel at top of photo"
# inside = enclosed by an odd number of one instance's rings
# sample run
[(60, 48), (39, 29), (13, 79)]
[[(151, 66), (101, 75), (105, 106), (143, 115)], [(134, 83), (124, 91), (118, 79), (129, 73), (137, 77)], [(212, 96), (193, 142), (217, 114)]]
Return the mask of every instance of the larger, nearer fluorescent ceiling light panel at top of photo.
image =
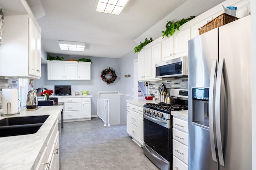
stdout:
[(96, 11), (119, 15), (128, 0), (99, 0)]

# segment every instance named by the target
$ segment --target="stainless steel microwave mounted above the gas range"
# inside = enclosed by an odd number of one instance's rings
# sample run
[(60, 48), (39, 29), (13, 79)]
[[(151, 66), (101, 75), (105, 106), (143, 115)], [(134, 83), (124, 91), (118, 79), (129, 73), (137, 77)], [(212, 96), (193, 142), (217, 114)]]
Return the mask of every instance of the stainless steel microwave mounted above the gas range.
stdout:
[(188, 57), (179, 57), (155, 64), (156, 77), (182, 77), (188, 75)]

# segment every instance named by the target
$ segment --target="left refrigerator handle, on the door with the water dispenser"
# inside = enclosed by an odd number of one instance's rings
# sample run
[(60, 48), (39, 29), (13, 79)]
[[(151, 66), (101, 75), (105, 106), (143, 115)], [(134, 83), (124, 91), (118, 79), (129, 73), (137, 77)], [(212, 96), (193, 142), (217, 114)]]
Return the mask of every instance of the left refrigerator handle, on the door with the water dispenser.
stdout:
[(212, 151), (212, 160), (214, 162), (217, 162), (217, 156), (216, 156), (216, 139), (214, 138), (214, 84), (216, 79), (216, 72), (217, 72), (217, 59), (212, 60), (212, 68), (211, 68), (211, 74), (210, 74), (210, 87), (209, 87), (209, 131), (210, 131), (210, 145), (211, 145), (211, 151)]

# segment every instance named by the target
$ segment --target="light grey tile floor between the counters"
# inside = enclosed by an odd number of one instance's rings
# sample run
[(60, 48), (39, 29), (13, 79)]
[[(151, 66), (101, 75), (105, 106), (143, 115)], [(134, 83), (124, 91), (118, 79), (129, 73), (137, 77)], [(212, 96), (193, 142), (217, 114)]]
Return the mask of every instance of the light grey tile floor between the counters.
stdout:
[(64, 123), (61, 170), (158, 170), (126, 133), (126, 125), (104, 127), (100, 119)]

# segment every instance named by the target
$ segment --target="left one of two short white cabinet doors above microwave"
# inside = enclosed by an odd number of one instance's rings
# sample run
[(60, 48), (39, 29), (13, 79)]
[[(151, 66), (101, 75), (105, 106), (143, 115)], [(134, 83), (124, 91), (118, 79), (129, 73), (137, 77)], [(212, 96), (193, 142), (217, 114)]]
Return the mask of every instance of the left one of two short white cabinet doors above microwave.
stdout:
[(170, 36), (161, 42), (162, 61), (173, 59), (174, 39)]

